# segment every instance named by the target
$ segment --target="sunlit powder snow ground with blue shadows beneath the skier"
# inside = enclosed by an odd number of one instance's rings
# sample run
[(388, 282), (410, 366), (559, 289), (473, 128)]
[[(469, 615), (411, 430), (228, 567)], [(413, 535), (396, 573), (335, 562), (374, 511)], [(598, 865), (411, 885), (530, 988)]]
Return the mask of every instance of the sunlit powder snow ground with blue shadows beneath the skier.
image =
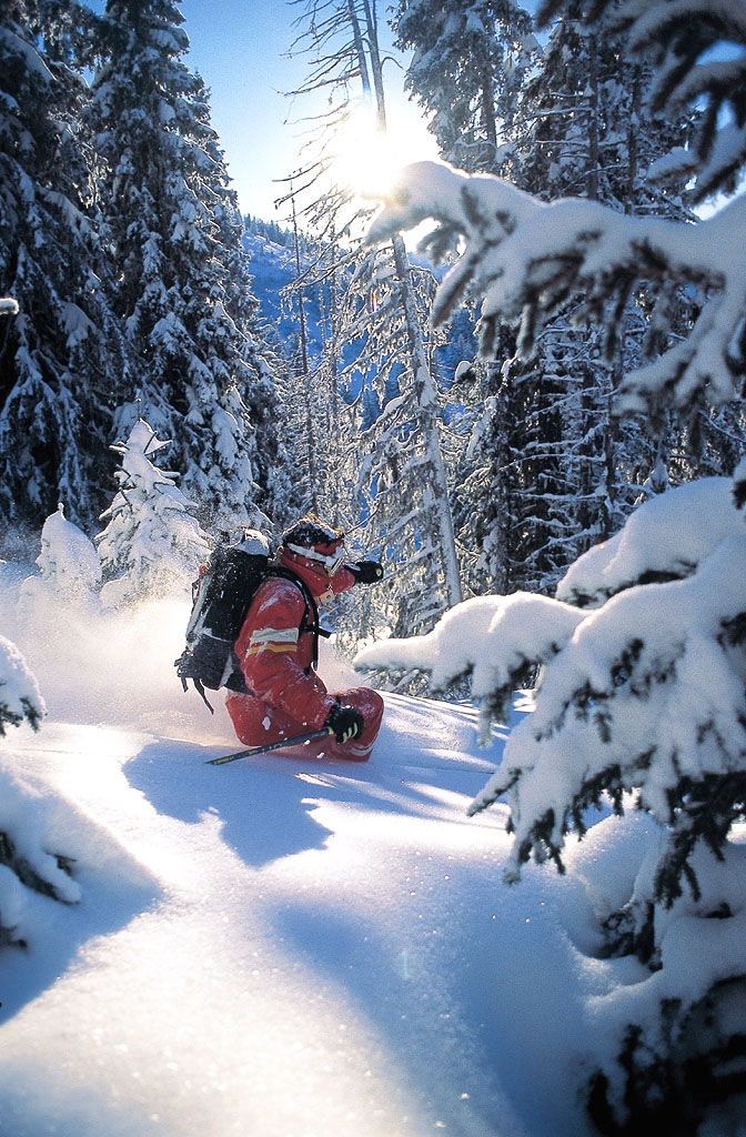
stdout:
[(577, 874), (503, 883), (505, 808), (466, 815), (499, 732), (480, 749), (472, 708), (389, 695), (366, 765), (210, 766), (235, 741), (175, 677), (184, 604), (31, 634), (3, 579), (48, 715), (0, 740), (0, 828), (73, 858), (80, 899), (0, 894), (27, 943), (0, 953), (0, 1134), (588, 1132), (594, 999), (640, 977), (586, 954)]

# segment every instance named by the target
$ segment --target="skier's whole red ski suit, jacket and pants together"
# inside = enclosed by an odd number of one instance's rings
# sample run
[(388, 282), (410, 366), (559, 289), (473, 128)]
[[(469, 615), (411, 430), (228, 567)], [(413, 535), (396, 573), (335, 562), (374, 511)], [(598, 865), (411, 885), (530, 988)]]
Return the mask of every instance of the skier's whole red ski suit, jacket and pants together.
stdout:
[(235, 733), (244, 746), (292, 738), (318, 730), (334, 703), (342, 703), (363, 715), (362, 735), (347, 742), (330, 735), (306, 744), (300, 752), (289, 747), (283, 753), (365, 762), (381, 725), (383, 699), (366, 687), (331, 695), (314, 671), (316, 599), (328, 589), (343, 592), (356, 578), (343, 566), (331, 579), (322, 578), (284, 551), (280, 565), (301, 578), (312, 599), (308, 601), (295, 581), (282, 576), (270, 576), (257, 589), (235, 642), (249, 694), (230, 691), (225, 700)]

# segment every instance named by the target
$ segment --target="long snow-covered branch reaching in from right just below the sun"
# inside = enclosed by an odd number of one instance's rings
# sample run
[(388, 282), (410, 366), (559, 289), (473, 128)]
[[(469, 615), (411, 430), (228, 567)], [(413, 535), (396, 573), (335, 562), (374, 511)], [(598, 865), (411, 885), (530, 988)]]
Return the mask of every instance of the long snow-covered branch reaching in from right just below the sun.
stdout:
[[(439, 163), (406, 167), (373, 222), (370, 241), (388, 239), (425, 218), (436, 222), (423, 246), (431, 256), (463, 242), (440, 284), (433, 319), (444, 321), (466, 293), (482, 297), (481, 348), (490, 357), (500, 322), (521, 321), (519, 354), (573, 293), (579, 318), (603, 322), (610, 300), (621, 316), (639, 280), (674, 280), (708, 291), (689, 337), (630, 373), (619, 410), (688, 412), (721, 406), (740, 391), (745, 366), (746, 266), (733, 256), (733, 234), (746, 230), (746, 199), (736, 198), (697, 225), (631, 217), (581, 199), (545, 205), (490, 175), (469, 176)], [(610, 346), (616, 326), (607, 326)]]

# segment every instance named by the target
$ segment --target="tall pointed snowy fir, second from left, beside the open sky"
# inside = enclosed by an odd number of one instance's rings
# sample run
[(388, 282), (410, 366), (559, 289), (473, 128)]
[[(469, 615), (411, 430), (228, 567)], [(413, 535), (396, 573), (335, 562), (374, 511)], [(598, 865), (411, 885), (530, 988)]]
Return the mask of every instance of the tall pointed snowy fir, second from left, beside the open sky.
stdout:
[(109, 0), (86, 124), (130, 355), (115, 429), (140, 398), (200, 516), (229, 533), (256, 518), (276, 416), (242, 222), (182, 25), (174, 0)]

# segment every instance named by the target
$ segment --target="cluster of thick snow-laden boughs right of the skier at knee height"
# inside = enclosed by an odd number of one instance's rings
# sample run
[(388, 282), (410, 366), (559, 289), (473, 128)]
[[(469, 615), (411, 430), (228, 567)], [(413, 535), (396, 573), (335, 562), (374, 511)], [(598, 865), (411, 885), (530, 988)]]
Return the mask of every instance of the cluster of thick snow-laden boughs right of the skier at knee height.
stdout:
[[(507, 879), (532, 853), (562, 868), (564, 838), (583, 832), (588, 806), (606, 792), (621, 810), (636, 791), (672, 827), (656, 877), (657, 896), (670, 899), (688, 875), (695, 832), (718, 852), (743, 808), (745, 557), (732, 483), (705, 479), (641, 506), (616, 538), (577, 562), (558, 594), (597, 607), (480, 597), (428, 636), (365, 648), (355, 665), (430, 671), (440, 688), (471, 675), (486, 725), (504, 714), (516, 681), (539, 670), (536, 708), (513, 729), (470, 810), (507, 796), (516, 835)], [(711, 810), (718, 779), (730, 796)], [(698, 819), (711, 810), (710, 829), (693, 827), (689, 810)]]

